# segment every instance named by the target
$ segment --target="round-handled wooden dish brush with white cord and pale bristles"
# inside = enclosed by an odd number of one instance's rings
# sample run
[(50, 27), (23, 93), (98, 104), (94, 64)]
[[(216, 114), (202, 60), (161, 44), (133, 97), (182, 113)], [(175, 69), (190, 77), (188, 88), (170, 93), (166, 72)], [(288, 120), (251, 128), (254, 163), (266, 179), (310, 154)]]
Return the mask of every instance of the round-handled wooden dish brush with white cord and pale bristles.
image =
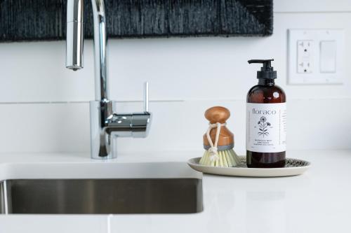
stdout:
[(226, 120), (230, 117), (227, 108), (216, 106), (208, 108), (205, 118), (210, 122), (204, 134), (205, 153), (199, 164), (211, 167), (236, 167), (240, 164), (234, 152), (234, 134), (227, 129)]

